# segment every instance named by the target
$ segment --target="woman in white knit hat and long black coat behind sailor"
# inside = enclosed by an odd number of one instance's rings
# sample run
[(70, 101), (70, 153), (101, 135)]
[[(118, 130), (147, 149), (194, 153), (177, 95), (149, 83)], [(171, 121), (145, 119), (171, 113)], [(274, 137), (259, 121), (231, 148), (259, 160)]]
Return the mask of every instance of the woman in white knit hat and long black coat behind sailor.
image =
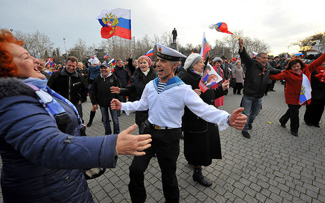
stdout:
[[(181, 78), (190, 85), (201, 99), (210, 105), (214, 100), (228, 93), (229, 80), (216, 89), (208, 89), (202, 93), (199, 83), (204, 69), (204, 62), (199, 54), (191, 54), (187, 57), (184, 69), (186, 74)], [(184, 130), (184, 155), (190, 165), (194, 167), (193, 180), (203, 186), (211, 186), (212, 182), (202, 175), (202, 166), (209, 166), (212, 159), (221, 159), (221, 145), (219, 131), (216, 124), (209, 123), (185, 107), (182, 118)]]

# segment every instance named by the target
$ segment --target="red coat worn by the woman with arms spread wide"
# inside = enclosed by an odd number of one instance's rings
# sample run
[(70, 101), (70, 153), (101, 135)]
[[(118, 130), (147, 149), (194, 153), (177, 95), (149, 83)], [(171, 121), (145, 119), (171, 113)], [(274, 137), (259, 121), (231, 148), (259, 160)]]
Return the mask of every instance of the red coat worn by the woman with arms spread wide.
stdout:
[[(318, 66), (320, 66), (324, 61), (325, 53), (322, 54), (318, 59), (313, 61), (311, 64), (305, 64), (305, 68), (302, 69), (301, 74), (296, 73), (292, 70), (283, 70), (283, 72), (277, 75), (270, 75), (269, 78), (273, 80), (285, 80), (285, 103), (291, 105), (299, 105), (300, 89), (301, 84), (303, 82), (303, 74), (308, 77), (310, 82), (311, 72), (314, 71)], [(305, 103), (303, 103), (303, 105), (305, 105)]]

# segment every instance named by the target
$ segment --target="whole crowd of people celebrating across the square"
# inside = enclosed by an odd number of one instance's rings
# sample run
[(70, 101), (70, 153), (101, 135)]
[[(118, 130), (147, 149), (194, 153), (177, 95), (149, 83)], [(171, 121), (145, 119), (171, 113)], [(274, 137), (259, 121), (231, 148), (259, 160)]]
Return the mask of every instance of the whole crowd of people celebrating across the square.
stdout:
[[(210, 58), (209, 53), (205, 61), (196, 53), (186, 57), (157, 44), (155, 60), (145, 55), (134, 60), (130, 52), (128, 59), (117, 59), (115, 66), (95, 56), (85, 64), (69, 56), (64, 64), (48, 66), (44, 59), (30, 56), (21, 47), (22, 41), (2, 30), (0, 144), (5, 202), (93, 202), (84, 169), (114, 168), (119, 154), (135, 155), (129, 166), (132, 202), (146, 200), (144, 172), (152, 157), (159, 163), (166, 202), (178, 202), (180, 139), (184, 139), (193, 181), (211, 186), (202, 167), (222, 158), (219, 131), (230, 126), (250, 138), (263, 97), (275, 91), (276, 80), (284, 85), (288, 105), (279, 119), (281, 127), (286, 128), (290, 119), (291, 134), (298, 136), (302, 105), (307, 107), (305, 123), (320, 127), (325, 54), (310, 64), (284, 55), (270, 58), (264, 52), (250, 57), (243, 39), (238, 43), (239, 57), (229, 62), (224, 56)], [(221, 80), (202, 91), (200, 82), (206, 69), (213, 69)], [(311, 82), (311, 99), (300, 102), (304, 77)], [(230, 87), (233, 94), (243, 93), (240, 108), (232, 113), (218, 109), (227, 105), (224, 97)], [(82, 103), (87, 99), (92, 108), (85, 124)], [(84, 136), (98, 108), (105, 135)], [(120, 132), (121, 111), (127, 115), (136, 112), (140, 136), (130, 134), (136, 125)]]

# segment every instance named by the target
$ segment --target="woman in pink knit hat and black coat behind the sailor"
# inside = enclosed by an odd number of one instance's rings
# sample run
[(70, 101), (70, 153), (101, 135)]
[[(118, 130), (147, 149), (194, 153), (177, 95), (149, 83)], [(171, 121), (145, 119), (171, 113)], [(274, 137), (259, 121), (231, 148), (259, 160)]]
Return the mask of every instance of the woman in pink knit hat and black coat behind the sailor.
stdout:
[[(151, 59), (147, 56), (141, 56), (138, 59), (139, 68), (137, 68), (131, 77), (131, 83), (126, 88), (111, 87), (112, 93), (128, 96), (135, 94), (136, 101), (141, 99), (141, 95), (147, 83), (158, 76), (157, 71), (151, 67)], [(140, 127), (143, 121), (148, 118), (148, 111), (136, 111), (136, 124)], [(140, 128), (139, 128), (139, 133)]]

